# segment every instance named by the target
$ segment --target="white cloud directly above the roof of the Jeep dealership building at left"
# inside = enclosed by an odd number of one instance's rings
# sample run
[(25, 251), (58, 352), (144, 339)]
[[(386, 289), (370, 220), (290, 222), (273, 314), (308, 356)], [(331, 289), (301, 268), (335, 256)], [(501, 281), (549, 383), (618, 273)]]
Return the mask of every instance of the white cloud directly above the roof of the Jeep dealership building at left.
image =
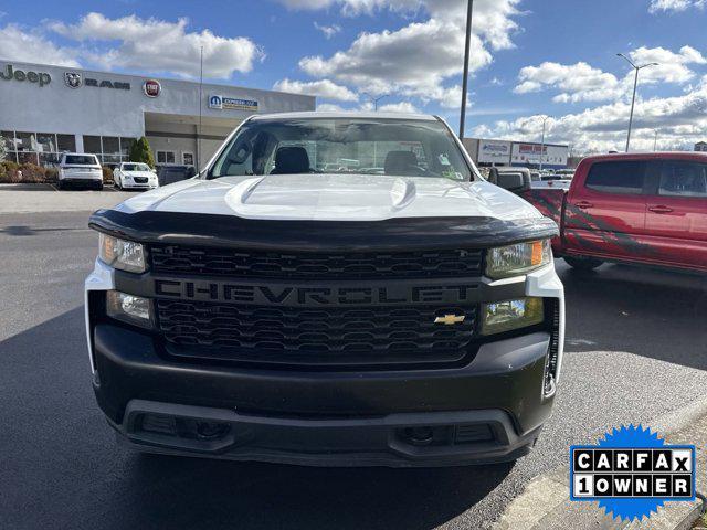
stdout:
[(203, 46), (205, 77), (229, 78), (235, 72), (250, 72), (264, 54), (250, 39), (224, 38), (209, 30), (189, 32), (187, 19), (170, 22), (128, 15), (109, 19), (88, 13), (76, 24), (50, 22), (48, 28), (84, 45), (109, 46), (82, 52), (86, 59), (106, 68), (168, 72), (183, 77), (199, 76), (200, 46)]

